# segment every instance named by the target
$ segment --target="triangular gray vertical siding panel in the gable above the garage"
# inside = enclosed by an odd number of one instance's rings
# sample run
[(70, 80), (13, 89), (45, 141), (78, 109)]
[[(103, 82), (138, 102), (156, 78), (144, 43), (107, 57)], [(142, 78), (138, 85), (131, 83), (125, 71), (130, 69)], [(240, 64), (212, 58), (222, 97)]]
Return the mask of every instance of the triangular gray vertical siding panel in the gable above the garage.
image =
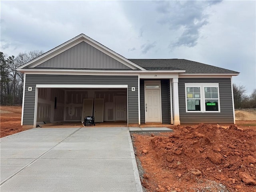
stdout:
[(86, 42), (73, 46), (36, 68), (131, 69)]

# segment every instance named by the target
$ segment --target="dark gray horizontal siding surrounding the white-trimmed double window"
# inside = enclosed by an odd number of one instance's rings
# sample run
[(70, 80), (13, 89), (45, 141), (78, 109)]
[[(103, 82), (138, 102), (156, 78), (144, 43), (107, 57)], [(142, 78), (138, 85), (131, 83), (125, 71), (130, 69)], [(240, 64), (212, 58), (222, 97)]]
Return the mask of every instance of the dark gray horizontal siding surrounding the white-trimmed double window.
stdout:
[[(186, 112), (185, 83), (219, 83), (220, 112)], [(179, 78), (178, 90), (181, 124), (234, 123), (230, 78)]]

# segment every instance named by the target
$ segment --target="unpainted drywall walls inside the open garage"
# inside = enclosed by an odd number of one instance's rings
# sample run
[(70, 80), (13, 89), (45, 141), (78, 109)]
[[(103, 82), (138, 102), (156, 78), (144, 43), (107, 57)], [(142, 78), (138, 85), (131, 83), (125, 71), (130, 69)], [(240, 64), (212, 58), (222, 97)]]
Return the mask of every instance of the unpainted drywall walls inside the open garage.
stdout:
[[(37, 123), (81, 121), (83, 100), (104, 99), (104, 121), (116, 120), (116, 97), (127, 106), (126, 89), (62, 89), (38, 88)], [(127, 114), (127, 107), (125, 107)], [(92, 114), (93, 115), (93, 114)], [(127, 115), (122, 119), (127, 120)]]

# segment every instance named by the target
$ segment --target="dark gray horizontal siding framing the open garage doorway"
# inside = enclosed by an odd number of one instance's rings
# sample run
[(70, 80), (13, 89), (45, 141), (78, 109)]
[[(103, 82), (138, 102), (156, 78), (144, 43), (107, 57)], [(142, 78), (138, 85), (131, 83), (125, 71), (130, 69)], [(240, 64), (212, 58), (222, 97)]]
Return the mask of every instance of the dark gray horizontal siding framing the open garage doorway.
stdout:
[[(128, 85), (128, 123), (138, 124), (138, 76), (26, 74), (24, 125), (32, 125), (34, 122), (36, 84)], [(28, 87), (32, 87), (32, 91), (28, 91)], [(132, 91), (132, 87), (135, 87), (135, 91)]]

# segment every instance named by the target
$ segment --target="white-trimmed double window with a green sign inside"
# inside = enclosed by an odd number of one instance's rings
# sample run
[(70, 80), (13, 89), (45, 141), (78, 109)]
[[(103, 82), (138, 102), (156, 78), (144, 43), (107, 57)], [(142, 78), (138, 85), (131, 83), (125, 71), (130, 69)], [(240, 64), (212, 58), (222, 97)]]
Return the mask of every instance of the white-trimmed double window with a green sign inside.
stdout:
[(220, 112), (218, 83), (185, 83), (186, 112)]

